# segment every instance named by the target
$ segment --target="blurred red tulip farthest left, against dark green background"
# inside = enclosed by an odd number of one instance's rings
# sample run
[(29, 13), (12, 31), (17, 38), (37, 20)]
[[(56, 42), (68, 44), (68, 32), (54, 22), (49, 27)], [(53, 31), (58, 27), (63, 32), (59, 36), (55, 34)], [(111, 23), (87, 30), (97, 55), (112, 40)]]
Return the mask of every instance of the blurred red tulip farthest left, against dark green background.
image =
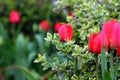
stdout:
[(9, 21), (10, 23), (19, 23), (20, 22), (20, 15), (17, 11), (11, 11), (9, 14)]

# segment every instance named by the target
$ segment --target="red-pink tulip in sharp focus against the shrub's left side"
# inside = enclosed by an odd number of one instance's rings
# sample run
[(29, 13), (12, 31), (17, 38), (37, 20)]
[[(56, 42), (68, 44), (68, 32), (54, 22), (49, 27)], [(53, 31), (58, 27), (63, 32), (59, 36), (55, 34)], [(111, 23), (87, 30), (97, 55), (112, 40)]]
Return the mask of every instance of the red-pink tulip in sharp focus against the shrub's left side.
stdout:
[(72, 26), (63, 24), (59, 29), (58, 29), (58, 35), (60, 37), (60, 41), (64, 42), (66, 40), (71, 40), (73, 37), (73, 31), (72, 31)]

